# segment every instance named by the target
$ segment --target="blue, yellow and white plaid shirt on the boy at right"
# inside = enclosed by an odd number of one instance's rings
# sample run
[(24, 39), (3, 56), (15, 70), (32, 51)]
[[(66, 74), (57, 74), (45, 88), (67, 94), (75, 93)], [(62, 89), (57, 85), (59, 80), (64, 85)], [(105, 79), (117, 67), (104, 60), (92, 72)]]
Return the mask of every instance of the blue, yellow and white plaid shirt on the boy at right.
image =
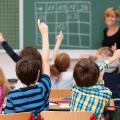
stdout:
[(71, 111), (91, 111), (98, 120), (103, 120), (104, 107), (109, 104), (111, 91), (98, 82), (93, 87), (77, 87), (72, 89)]

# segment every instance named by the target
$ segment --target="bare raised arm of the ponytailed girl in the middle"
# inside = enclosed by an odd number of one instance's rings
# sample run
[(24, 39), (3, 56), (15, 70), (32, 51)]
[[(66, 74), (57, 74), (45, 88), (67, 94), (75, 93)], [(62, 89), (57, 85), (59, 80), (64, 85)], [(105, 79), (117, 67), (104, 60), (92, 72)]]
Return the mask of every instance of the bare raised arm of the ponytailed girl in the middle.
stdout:
[(60, 49), (60, 46), (61, 46), (61, 43), (62, 43), (63, 39), (64, 39), (63, 32), (60, 31), (60, 33), (56, 36), (56, 44), (55, 44), (55, 48), (54, 48), (54, 51), (53, 51), (53, 59), (54, 60), (56, 59), (56, 57), (59, 54), (59, 49)]

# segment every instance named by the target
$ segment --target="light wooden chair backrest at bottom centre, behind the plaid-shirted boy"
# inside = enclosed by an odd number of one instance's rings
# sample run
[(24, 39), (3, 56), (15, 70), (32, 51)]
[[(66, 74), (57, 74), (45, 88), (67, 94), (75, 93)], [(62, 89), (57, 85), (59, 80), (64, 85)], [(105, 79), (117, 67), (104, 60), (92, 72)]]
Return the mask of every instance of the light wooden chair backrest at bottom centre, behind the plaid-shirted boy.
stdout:
[(43, 111), (41, 116), (44, 120), (90, 120), (91, 112), (67, 112), (67, 111)]

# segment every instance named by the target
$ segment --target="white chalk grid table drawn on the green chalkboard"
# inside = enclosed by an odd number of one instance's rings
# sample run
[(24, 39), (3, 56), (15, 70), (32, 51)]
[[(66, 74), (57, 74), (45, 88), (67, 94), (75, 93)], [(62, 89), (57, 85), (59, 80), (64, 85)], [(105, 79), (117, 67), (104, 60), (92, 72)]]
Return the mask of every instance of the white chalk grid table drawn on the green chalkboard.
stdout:
[[(64, 33), (62, 48), (91, 48), (91, 2), (57, 1), (34, 3), (35, 22), (41, 19), (49, 26), (50, 47), (55, 45), (55, 36), (59, 31)], [(35, 23), (36, 24), (36, 23)], [(35, 28), (36, 46), (41, 46), (40, 33)]]

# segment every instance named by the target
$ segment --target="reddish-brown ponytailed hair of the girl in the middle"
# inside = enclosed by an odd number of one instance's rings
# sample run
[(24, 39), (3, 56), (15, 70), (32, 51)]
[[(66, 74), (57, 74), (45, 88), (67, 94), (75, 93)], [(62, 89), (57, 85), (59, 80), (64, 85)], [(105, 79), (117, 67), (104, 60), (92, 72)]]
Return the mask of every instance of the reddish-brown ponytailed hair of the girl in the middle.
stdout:
[(56, 77), (59, 80), (61, 72), (65, 72), (70, 66), (70, 57), (66, 53), (59, 54), (54, 62), (54, 65), (50, 67), (51, 76)]

